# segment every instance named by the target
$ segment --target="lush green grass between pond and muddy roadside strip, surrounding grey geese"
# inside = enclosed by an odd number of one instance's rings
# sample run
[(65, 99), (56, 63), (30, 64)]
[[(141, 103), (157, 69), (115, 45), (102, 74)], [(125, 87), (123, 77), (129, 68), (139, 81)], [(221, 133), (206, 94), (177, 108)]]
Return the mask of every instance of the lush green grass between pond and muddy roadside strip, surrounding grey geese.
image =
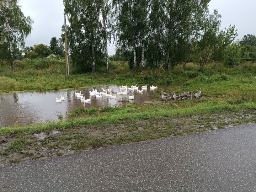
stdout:
[[(213, 69), (215, 73), (211, 74)], [(210, 65), (205, 69), (204, 74), (198, 75), (194, 80), (189, 80), (183, 86), (176, 88), (176, 90), (189, 88), (196, 91), (201, 87), (202, 95), (205, 97), (202, 100), (167, 102), (163, 105), (128, 105), (116, 108), (107, 106), (86, 109), (81, 107), (70, 114), (69, 121), (26, 127), (4, 127), (0, 129), (0, 135), (19, 132), (35, 133), (54, 129), (64, 130), (96, 123), (106, 125), (120, 121), (133, 121), (133, 119), (179, 118), (194, 114), (211, 114), (256, 108), (256, 77), (254, 73), (248, 71), (245, 73), (239, 69), (227, 69), (222, 65)], [(244, 67), (241, 67), (241, 69), (244, 70)], [(222, 73), (220, 74), (219, 71)], [(160, 98), (161, 91), (158, 90), (155, 93), (156, 99)], [(172, 90), (167, 89), (167, 92), (171, 94)], [(83, 117), (76, 118), (77, 116)]]

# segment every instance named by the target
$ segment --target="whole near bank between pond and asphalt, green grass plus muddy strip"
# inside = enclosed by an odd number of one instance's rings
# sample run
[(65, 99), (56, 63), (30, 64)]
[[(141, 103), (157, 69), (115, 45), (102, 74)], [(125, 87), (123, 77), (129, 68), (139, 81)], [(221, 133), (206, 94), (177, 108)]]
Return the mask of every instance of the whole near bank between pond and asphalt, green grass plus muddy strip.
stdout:
[[(178, 71), (179, 67), (175, 70)], [(188, 74), (187, 71), (197, 71), (196, 67), (189, 64), (182, 69)], [(211, 64), (204, 73), (198, 73), (195, 79), (175, 88), (176, 91), (188, 88), (196, 91), (201, 87), (204, 96), (201, 100), (78, 108), (65, 122), (0, 128), (0, 162), (20, 162), (101, 146), (256, 123), (255, 74), (255, 64), (235, 68)], [(161, 91), (155, 92), (155, 100), (158, 100), (155, 103), (159, 103)], [(170, 89), (166, 91), (172, 92)], [(56, 130), (59, 132), (53, 132)], [(42, 132), (45, 138), (38, 140), (34, 134)]]

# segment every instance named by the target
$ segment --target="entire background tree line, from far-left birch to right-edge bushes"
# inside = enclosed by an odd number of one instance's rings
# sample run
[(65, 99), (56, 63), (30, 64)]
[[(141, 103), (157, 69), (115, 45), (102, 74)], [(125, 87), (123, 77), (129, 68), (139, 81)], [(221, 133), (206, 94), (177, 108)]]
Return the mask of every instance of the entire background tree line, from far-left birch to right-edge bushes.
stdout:
[[(25, 47), (32, 18), (25, 17), (19, 0), (0, 2), (0, 60), (32, 59), (54, 53), (64, 56), (64, 41), (53, 37), (50, 46)], [(256, 37), (241, 41), (235, 26), (220, 30), (221, 15), (209, 12), (210, 0), (63, 0), (68, 17), (68, 45), (73, 64), (81, 71), (96, 71), (105, 60), (109, 71), (109, 43), (116, 45), (111, 59), (128, 61), (130, 68), (166, 70), (181, 62), (203, 67), (216, 61), (238, 65), (256, 61)], [(64, 28), (62, 28), (64, 29)], [(64, 30), (63, 30), (64, 31)]]

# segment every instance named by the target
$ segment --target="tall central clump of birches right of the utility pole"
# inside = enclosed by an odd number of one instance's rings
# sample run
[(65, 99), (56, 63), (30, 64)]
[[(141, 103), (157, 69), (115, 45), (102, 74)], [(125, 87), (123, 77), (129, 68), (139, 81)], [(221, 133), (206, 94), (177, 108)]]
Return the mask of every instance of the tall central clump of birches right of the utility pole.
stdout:
[[(64, 0), (68, 44), (74, 64), (95, 72), (114, 41), (130, 68), (168, 69), (181, 62), (222, 62), (237, 37), (235, 26), (220, 30), (221, 15), (210, 0)], [(112, 42), (111, 42), (112, 43)], [(112, 57), (113, 58), (113, 57)]]

